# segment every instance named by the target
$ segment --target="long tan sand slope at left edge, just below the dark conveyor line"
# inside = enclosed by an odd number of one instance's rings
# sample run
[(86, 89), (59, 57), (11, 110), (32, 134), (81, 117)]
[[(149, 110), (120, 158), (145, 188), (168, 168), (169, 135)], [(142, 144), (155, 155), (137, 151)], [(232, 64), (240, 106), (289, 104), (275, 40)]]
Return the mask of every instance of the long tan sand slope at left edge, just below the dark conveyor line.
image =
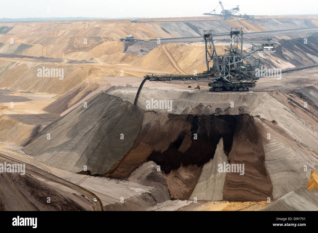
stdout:
[[(64, 69), (64, 78), (38, 77), (38, 69)], [(84, 80), (104, 77), (107, 68), (70, 64), (33, 63), (0, 59), (0, 87), (36, 93), (64, 94)], [(110, 69), (110, 73), (114, 69)], [(109, 70), (108, 70), (109, 71)]]

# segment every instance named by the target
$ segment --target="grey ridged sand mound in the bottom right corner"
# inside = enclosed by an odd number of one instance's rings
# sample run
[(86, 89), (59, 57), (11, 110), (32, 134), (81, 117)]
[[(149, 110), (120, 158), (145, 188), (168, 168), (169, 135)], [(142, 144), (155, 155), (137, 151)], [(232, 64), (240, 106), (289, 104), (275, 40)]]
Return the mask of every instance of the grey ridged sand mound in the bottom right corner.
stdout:
[(264, 211), (317, 211), (318, 197), (307, 188), (298, 188), (287, 193)]

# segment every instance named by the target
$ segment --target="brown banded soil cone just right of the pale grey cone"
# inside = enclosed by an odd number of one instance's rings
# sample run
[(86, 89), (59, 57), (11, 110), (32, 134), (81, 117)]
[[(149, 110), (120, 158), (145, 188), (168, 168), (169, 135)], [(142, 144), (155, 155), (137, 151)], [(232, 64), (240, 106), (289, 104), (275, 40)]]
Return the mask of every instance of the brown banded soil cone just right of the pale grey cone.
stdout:
[(273, 185), (265, 167), (262, 139), (251, 116), (239, 115), (229, 163), (244, 164), (244, 175), (227, 173), (223, 187), (223, 200), (267, 201), (273, 200)]

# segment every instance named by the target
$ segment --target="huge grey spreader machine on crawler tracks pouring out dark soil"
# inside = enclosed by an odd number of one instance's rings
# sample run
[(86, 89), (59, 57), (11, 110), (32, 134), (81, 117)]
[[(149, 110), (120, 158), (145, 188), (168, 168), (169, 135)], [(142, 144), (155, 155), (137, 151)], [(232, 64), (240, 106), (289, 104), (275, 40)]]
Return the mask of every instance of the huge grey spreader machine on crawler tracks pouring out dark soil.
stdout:
[[(275, 51), (275, 44), (271, 44), (270, 39), (262, 45), (253, 45), (248, 49), (243, 49), (243, 28), (231, 28), (230, 33), (218, 34), (230, 35), (231, 42), (229, 49), (225, 50), (224, 55), (218, 55), (213, 42), (212, 31), (203, 31), (205, 41), (205, 61), (207, 70), (195, 75), (146, 75), (145, 79), (150, 81), (165, 80), (199, 80), (209, 79), (211, 82), (211, 92), (220, 91), (247, 91), (255, 87), (255, 70), (259, 67), (260, 59), (254, 59), (252, 64), (243, 61), (261, 51)], [(210, 67), (210, 62), (213, 65)]]

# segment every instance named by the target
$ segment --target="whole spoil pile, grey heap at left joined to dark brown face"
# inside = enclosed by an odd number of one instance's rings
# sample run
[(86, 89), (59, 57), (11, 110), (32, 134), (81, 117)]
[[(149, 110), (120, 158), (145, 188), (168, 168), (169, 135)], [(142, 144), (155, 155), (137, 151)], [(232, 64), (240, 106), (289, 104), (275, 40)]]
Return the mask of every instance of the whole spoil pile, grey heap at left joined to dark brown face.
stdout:
[[(87, 101), (87, 107), (78, 106), (45, 127), (24, 151), (57, 168), (81, 173), (87, 166), (92, 175), (115, 178), (128, 178), (144, 162), (154, 161), (161, 167), (171, 197), (189, 199), (199, 179), (216, 179), (204, 175), (204, 165), (213, 161), (218, 144), (225, 154), (220, 163), (245, 164), (244, 176), (223, 176), (218, 187), (221, 199), (272, 197), (262, 138), (248, 114), (145, 112), (102, 91)], [(213, 190), (204, 194), (200, 189), (196, 192), (208, 200)]]

